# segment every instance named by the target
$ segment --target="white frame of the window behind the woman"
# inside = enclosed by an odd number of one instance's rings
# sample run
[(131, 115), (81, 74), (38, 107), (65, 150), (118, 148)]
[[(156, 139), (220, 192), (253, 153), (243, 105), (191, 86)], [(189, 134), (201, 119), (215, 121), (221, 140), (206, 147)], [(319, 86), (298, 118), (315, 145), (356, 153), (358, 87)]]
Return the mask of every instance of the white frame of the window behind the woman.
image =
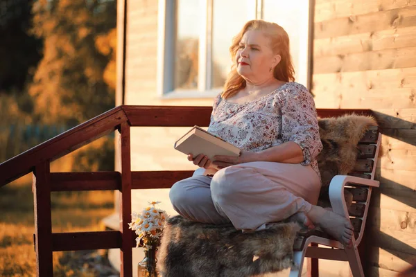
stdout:
[[(195, 0), (198, 1), (198, 0)], [(211, 66), (212, 66), (212, 18), (214, 0), (199, 0), (203, 2), (207, 12), (201, 17), (202, 31), (199, 37), (198, 53), (198, 89), (175, 89), (175, 39), (176, 39), (176, 0), (159, 0), (158, 7), (158, 41), (157, 41), (157, 96), (163, 99), (174, 98), (213, 98), (221, 88), (211, 88)], [(218, 1), (218, 0), (217, 0)], [(242, 0), (243, 1), (243, 0)], [(245, 0), (249, 9), (252, 10), (250, 19), (263, 18), (262, 0)], [(251, 9), (250, 9), (251, 7)], [(302, 36), (303, 37), (303, 36)], [(301, 53), (302, 57), (310, 57), (309, 37), (306, 36), (308, 45), (307, 53)], [(302, 83), (309, 82), (309, 67), (307, 72), (297, 74), (305, 77)], [(306, 86), (309, 87), (309, 86)]]

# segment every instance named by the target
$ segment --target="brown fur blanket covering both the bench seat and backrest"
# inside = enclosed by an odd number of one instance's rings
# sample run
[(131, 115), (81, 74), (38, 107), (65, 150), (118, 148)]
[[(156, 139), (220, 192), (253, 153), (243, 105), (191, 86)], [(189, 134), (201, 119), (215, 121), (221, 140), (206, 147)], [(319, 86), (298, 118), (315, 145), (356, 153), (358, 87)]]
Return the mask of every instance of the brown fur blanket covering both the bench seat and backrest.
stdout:
[[(354, 168), (358, 141), (376, 122), (350, 115), (318, 123), (324, 149), (317, 159), (326, 191), (333, 176), (346, 175)], [(164, 229), (157, 268), (163, 277), (244, 277), (281, 271), (293, 265), (293, 242), (299, 229), (297, 224), (279, 222), (270, 229), (241, 233), (231, 224), (172, 217)]]

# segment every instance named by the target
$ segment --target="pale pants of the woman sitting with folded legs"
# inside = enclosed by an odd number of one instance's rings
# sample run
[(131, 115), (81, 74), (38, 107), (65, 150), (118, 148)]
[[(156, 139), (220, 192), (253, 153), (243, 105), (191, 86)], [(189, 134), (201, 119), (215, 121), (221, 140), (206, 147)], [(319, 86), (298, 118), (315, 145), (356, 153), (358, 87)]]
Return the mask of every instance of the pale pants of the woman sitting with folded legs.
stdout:
[(231, 221), (239, 230), (261, 230), (318, 202), (320, 179), (311, 166), (255, 161), (223, 168), (214, 177), (201, 171), (169, 193), (175, 211), (196, 222)]

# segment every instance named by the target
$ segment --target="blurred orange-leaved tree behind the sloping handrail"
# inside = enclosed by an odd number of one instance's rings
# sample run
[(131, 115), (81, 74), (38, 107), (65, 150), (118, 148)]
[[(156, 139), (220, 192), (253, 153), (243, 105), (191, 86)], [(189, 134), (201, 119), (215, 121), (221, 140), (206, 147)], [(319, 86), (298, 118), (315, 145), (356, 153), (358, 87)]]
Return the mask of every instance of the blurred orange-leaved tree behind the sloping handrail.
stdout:
[(96, 47), (116, 27), (116, 1), (38, 0), (33, 34), (44, 40), (44, 57), (29, 93), (44, 123), (76, 125), (114, 107), (114, 88), (105, 82), (112, 48)]

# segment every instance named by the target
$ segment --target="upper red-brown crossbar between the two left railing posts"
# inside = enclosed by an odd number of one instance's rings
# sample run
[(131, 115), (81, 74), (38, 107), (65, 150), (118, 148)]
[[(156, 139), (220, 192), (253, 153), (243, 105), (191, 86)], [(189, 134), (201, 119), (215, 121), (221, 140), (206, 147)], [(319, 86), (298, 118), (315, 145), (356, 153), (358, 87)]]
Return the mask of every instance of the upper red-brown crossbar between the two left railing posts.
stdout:
[(52, 191), (120, 190), (120, 172), (51, 173)]

